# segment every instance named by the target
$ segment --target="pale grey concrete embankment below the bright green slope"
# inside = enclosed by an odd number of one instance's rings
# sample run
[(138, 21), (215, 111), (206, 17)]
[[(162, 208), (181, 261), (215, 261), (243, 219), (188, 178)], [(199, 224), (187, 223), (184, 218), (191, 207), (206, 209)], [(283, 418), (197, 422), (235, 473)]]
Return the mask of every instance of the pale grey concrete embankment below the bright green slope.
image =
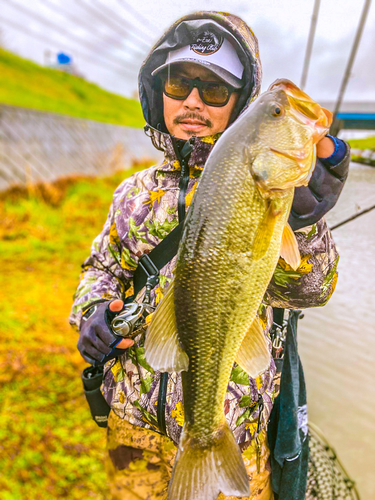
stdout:
[(142, 129), (0, 105), (0, 190), (158, 159)]

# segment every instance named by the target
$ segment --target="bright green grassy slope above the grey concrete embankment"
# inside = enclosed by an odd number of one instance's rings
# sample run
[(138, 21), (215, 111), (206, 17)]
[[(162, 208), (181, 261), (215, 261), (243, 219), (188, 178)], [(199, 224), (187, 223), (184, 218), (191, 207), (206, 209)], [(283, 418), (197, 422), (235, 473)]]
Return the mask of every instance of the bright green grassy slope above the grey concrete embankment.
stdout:
[(0, 48), (0, 103), (143, 127), (139, 102)]

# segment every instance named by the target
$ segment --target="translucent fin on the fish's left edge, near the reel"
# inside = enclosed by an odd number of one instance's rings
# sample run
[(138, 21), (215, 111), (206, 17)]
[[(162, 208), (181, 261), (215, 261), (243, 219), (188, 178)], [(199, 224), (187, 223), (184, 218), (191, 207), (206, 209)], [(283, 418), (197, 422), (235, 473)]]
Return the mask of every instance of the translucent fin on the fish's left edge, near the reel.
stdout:
[(147, 363), (154, 370), (181, 372), (189, 367), (189, 358), (180, 346), (177, 336), (174, 308), (174, 281), (152, 316), (145, 342)]

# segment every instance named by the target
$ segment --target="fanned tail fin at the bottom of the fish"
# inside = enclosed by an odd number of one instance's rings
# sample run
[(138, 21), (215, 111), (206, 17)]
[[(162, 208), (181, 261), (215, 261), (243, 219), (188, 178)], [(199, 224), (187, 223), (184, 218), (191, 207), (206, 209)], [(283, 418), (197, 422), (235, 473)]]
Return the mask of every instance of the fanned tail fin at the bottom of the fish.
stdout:
[(226, 496), (250, 495), (238, 444), (225, 421), (212, 439), (202, 445), (184, 427), (169, 483), (168, 500), (216, 500)]

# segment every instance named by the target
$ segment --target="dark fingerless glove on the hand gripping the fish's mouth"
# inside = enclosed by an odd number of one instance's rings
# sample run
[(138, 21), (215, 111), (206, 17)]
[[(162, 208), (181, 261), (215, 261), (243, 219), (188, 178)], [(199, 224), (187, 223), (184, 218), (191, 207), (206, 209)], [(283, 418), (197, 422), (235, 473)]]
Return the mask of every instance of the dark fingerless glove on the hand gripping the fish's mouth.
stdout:
[(289, 216), (289, 224), (294, 231), (315, 224), (335, 206), (349, 171), (350, 148), (345, 147), (345, 156), (340, 163), (330, 165), (328, 161), (318, 158), (308, 186), (295, 189)]

